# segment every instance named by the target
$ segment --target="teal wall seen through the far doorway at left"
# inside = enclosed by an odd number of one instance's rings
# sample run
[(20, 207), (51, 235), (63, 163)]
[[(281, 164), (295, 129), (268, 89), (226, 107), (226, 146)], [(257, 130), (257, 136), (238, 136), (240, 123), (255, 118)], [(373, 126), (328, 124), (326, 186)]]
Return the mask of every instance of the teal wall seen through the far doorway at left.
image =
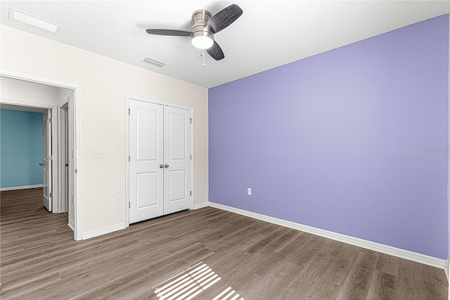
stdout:
[(41, 185), (42, 113), (0, 109), (0, 187)]

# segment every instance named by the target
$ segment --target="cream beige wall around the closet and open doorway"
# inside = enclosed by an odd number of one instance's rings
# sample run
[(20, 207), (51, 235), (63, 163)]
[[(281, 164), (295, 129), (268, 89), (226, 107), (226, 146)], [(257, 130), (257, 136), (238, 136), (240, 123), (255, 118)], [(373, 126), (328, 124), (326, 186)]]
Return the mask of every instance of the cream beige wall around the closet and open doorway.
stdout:
[(1, 68), (82, 85), (83, 233), (125, 220), (125, 94), (194, 108), (194, 204), (207, 201), (207, 89), (5, 25), (0, 42)]

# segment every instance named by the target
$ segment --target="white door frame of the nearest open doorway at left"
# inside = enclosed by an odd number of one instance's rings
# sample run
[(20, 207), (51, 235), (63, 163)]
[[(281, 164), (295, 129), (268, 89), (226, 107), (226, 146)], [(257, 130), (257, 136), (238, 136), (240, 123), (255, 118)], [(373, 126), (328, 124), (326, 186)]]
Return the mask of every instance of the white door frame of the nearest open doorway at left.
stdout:
[[(81, 112), (82, 112), (82, 86), (72, 83), (65, 82), (62, 80), (55, 80), (48, 77), (42, 77), (38, 75), (32, 75), (22, 72), (17, 72), (14, 70), (7, 70), (0, 68), (0, 76), (24, 80), (29, 82), (41, 83), (44, 85), (52, 85), (53, 87), (63, 87), (65, 89), (72, 89), (74, 91), (74, 114), (75, 114), (75, 230), (74, 239), (76, 241), (82, 240), (82, 123), (81, 123)], [(39, 104), (25, 104), (22, 102), (10, 101), (8, 104), (15, 104), (20, 106), (34, 106), (41, 108), (55, 108), (42, 106)], [(52, 109), (53, 110), (53, 109)], [(56, 110), (53, 111), (56, 113)], [(52, 123), (55, 124), (56, 122)]]

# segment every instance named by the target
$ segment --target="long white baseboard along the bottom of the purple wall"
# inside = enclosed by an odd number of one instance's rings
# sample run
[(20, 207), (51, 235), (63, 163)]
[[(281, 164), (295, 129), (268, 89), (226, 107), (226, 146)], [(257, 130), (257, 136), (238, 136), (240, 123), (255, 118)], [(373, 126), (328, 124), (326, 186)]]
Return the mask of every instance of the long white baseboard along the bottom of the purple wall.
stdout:
[(328, 239), (334, 239), (338, 242), (344, 242), (346, 244), (351, 244), (354, 246), (359, 246), (361, 248), (378, 251), (384, 254), (396, 256), (399, 258), (404, 258), (409, 261), (415, 261), (416, 263), (423, 263), (424, 265), (431, 265), (432, 267), (441, 268), (446, 271), (447, 278), (448, 278), (448, 263), (449, 261), (446, 261), (441, 258), (435, 258), (432, 256), (427, 256), (425, 254), (418, 254), (416, 252), (403, 250), (399, 248), (395, 248), (392, 246), (387, 246), (383, 244), (378, 244), (375, 242), (366, 241), (365, 239), (359, 239), (357, 237), (350, 237), (348, 235), (341, 235), (340, 233), (331, 232), (328, 230), (319, 229), (316, 227), (311, 227), (307, 225), (302, 225), (300, 223), (290, 222), (287, 220), (282, 220), (274, 217), (269, 217), (268, 215), (261, 215), (259, 213), (252, 213), (251, 211), (245, 211), (240, 208), (233, 208), (231, 206), (225, 206), (222, 204), (217, 204), (214, 202), (209, 202), (211, 207), (219, 208), (224, 211), (230, 211), (231, 213), (238, 213), (240, 215), (246, 215), (250, 218), (255, 218), (258, 220), (263, 220), (269, 223), (274, 223), (276, 225), (281, 225), (284, 227), (293, 228), (296, 230), (304, 231), (311, 233), (313, 235), (319, 235), (320, 237), (326, 237)]

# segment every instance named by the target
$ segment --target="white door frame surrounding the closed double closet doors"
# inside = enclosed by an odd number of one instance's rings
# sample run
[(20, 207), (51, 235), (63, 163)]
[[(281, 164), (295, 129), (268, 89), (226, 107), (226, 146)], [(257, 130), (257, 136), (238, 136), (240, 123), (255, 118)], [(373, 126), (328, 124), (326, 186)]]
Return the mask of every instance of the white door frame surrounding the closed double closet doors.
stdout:
[(193, 210), (194, 209), (194, 131), (193, 131), (193, 125), (194, 125), (194, 108), (190, 107), (190, 106), (184, 106), (184, 105), (180, 105), (180, 104), (174, 104), (174, 103), (170, 103), (170, 102), (166, 102), (166, 101), (160, 101), (160, 100), (156, 100), (156, 99), (150, 99), (150, 98), (145, 98), (145, 97), (141, 97), (141, 96), (135, 96), (132, 94), (125, 94), (125, 226), (129, 227), (129, 101), (133, 99), (133, 100), (138, 100), (138, 101), (144, 101), (144, 102), (149, 102), (149, 103), (153, 103), (153, 104), (161, 104), (163, 106), (172, 106), (172, 107), (176, 107), (176, 108), (184, 108), (188, 111), (191, 111), (191, 118), (192, 118), (192, 123), (191, 123), (191, 155), (192, 155), (192, 159), (191, 159), (191, 191), (192, 191), (192, 195), (191, 195), (191, 207), (189, 209)]

